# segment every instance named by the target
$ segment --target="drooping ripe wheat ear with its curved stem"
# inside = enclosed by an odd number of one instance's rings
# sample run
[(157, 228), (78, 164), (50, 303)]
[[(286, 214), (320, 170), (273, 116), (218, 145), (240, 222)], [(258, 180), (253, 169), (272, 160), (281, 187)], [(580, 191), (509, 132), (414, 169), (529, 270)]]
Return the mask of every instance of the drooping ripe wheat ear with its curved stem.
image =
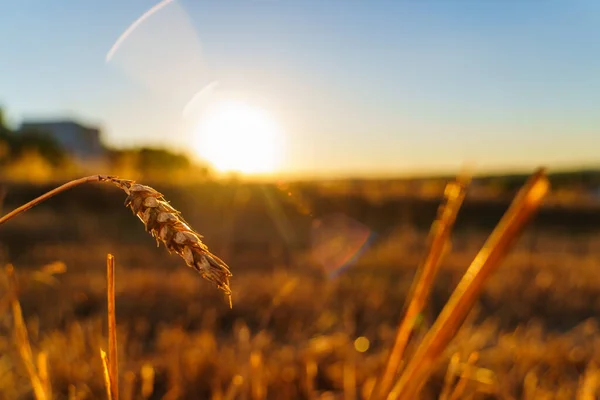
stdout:
[(231, 306), (231, 290), (229, 288), (231, 272), (227, 264), (212, 254), (202, 243), (202, 235), (195, 232), (185, 222), (179, 211), (173, 208), (161, 193), (149, 186), (107, 175), (92, 175), (76, 179), (4, 215), (0, 218), (0, 225), (58, 193), (88, 182), (112, 183), (123, 190), (127, 194), (125, 206), (130, 207), (133, 213), (142, 220), (146, 231), (156, 239), (157, 243), (164, 243), (170, 253), (179, 254), (188, 266), (222, 289), (229, 296), (229, 305)]

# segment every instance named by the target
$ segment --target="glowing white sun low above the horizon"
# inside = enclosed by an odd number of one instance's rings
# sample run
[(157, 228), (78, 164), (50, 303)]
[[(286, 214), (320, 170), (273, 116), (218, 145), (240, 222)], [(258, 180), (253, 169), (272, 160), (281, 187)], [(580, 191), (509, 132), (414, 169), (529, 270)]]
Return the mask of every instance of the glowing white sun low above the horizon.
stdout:
[(275, 172), (283, 134), (265, 110), (241, 101), (221, 101), (200, 118), (195, 152), (220, 172)]

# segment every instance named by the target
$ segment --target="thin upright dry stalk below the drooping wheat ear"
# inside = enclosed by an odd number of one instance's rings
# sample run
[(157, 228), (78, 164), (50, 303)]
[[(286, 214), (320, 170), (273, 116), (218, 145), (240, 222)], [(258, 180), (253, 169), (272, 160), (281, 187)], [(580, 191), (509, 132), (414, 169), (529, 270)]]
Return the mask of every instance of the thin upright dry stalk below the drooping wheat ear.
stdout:
[(117, 352), (117, 317), (115, 312), (115, 258), (106, 256), (106, 295), (108, 300), (108, 372), (110, 374), (112, 398), (119, 399), (119, 362)]

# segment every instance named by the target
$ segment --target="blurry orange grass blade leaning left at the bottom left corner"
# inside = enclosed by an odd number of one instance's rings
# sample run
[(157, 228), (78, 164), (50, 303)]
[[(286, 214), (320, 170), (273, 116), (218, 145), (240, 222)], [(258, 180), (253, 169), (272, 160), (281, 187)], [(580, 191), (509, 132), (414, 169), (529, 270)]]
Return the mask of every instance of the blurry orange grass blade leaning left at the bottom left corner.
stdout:
[(33, 361), (33, 352), (31, 351), (31, 344), (29, 343), (29, 335), (27, 334), (27, 328), (25, 326), (25, 321), (23, 320), (21, 304), (17, 298), (17, 279), (12, 265), (6, 267), (6, 274), (11, 285), (9, 288), (9, 297), (13, 314), (15, 343), (17, 344), (17, 349), (19, 350), (21, 359), (25, 364), (25, 369), (29, 375), (29, 380), (31, 381), (31, 386), (33, 387), (33, 393), (36, 400), (48, 400), (48, 394), (46, 393), (44, 384), (38, 375)]

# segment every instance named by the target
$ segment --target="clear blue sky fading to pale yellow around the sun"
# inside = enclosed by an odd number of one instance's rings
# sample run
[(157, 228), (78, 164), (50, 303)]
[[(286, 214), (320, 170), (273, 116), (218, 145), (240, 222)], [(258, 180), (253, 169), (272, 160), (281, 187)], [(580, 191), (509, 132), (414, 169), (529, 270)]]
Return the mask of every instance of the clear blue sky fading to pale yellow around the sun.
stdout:
[(597, 0), (4, 0), (10, 121), (74, 117), (114, 146), (189, 149), (182, 109), (266, 110), (279, 171), (368, 174), (600, 165)]

